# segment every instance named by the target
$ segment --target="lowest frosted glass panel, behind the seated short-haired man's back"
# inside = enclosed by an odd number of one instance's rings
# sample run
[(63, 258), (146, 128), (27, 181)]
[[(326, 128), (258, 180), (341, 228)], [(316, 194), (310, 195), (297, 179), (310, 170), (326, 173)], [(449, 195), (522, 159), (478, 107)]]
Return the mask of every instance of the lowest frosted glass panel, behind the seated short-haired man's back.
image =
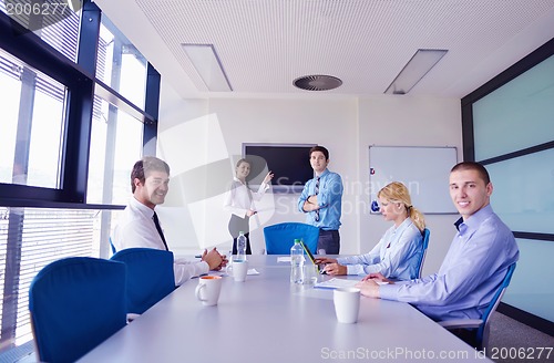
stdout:
[(554, 321), (554, 242), (517, 239), (517, 246), (520, 261), (502, 302)]

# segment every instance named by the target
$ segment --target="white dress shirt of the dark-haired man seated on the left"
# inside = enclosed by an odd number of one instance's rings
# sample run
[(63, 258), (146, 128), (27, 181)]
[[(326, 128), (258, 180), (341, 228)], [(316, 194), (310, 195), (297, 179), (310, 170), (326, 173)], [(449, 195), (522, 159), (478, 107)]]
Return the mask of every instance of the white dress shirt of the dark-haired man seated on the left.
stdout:
[[(123, 210), (117, 226), (115, 226), (112, 243), (115, 249), (143, 247), (165, 250), (164, 242), (154, 225), (154, 210), (132, 197)], [(179, 286), (192, 277), (207, 273), (207, 262), (191, 262), (184, 259), (174, 259), (173, 271), (175, 284)]]

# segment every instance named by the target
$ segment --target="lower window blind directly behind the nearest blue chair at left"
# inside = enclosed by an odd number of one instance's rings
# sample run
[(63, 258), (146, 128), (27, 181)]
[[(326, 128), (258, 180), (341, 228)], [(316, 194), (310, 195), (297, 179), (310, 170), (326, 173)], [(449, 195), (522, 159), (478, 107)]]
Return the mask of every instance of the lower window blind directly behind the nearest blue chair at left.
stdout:
[[(11, 343), (32, 339), (28, 304), (34, 276), (58, 259), (96, 255), (99, 225), (98, 210), (0, 207), (0, 321), (1, 331), (14, 336)], [(8, 343), (0, 339), (2, 345)]]

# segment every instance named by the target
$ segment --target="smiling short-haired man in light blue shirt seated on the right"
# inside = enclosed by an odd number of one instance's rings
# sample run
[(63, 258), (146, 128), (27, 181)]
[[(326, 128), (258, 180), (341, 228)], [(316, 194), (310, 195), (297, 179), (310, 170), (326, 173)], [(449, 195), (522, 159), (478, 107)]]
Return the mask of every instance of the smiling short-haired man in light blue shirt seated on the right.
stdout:
[(458, 234), (438, 273), (422, 279), (388, 281), (370, 274), (357, 284), (371, 298), (409, 302), (433, 320), (480, 319), (507, 268), (520, 251), (510, 228), (490, 206), (493, 187), (478, 163), (464, 162), (450, 172), (450, 196), (462, 216)]

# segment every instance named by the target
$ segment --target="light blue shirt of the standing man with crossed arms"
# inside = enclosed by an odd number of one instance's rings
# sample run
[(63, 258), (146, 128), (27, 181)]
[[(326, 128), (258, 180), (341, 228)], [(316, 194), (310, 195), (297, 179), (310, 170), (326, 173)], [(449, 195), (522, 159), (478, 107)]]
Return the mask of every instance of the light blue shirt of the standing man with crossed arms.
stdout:
[[(298, 199), (298, 209), (302, 209), (304, 203), (309, 196), (316, 194), (316, 178), (309, 179), (304, 186), (302, 194)], [(319, 220), (316, 221), (316, 211), (309, 211), (306, 216), (306, 224), (316, 226), (325, 230), (338, 230), (340, 227), (340, 214), (342, 210), (342, 179), (337, 173), (325, 169), (319, 176), (319, 193), (317, 195), (319, 204)]]

